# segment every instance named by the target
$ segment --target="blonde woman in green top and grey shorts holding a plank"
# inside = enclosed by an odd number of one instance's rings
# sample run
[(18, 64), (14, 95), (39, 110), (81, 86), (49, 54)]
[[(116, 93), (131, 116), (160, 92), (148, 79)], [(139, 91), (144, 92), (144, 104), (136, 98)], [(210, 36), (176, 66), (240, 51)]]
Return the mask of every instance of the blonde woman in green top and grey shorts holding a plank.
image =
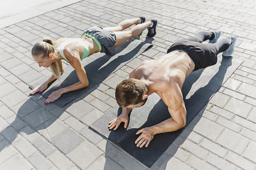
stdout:
[[(132, 29), (122, 31), (130, 26), (137, 24)], [(71, 64), (78, 74), (79, 82), (71, 86), (67, 86), (57, 91), (53, 91), (48, 96), (45, 103), (48, 104), (57, 100), (62, 94), (69, 91), (75, 91), (85, 88), (89, 85), (87, 75), (81, 60), (95, 52), (105, 52), (107, 55), (114, 55), (114, 47), (122, 45), (127, 40), (130, 40), (137, 35), (140, 35), (143, 30), (148, 28), (148, 38), (156, 35), (156, 20), (145, 22), (143, 16), (134, 19), (128, 19), (120, 22), (115, 27), (101, 28), (94, 26), (85, 30), (81, 38), (60, 38), (53, 42), (49, 39), (44, 39), (42, 42), (37, 42), (32, 48), (33, 59), (38, 62), (39, 67), (50, 67), (53, 76), (43, 84), (37, 86), (31, 91), (31, 95), (38, 91), (44, 91), (48, 84), (54, 79), (59, 79), (63, 73), (62, 60), (66, 60)]]

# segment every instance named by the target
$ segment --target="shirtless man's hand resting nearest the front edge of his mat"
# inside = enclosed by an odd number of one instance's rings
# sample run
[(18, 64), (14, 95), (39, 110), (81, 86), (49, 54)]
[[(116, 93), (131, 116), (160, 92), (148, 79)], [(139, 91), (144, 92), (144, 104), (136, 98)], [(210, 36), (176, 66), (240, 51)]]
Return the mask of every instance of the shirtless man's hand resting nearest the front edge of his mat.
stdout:
[(154, 137), (154, 132), (151, 128), (143, 128), (139, 130), (136, 135), (139, 135), (140, 133), (142, 133), (142, 135), (140, 135), (135, 141), (135, 144), (137, 144), (136, 146), (142, 148), (145, 145), (145, 147), (148, 147), (149, 142), (151, 142)]

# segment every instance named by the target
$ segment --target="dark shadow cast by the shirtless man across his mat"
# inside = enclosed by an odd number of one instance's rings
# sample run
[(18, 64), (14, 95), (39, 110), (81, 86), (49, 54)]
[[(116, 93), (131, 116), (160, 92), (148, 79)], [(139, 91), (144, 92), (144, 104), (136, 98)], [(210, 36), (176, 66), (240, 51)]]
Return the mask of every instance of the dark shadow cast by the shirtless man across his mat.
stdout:
[[(188, 124), (191, 123), (193, 118), (195, 118), (196, 116), (197, 118), (193, 120), (193, 125), (196, 125), (196, 123), (198, 123), (202, 116), (198, 113), (203, 113), (205, 111), (206, 104), (208, 103), (210, 98), (213, 96), (213, 94), (215, 94), (218, 91), (218, 89), (220, 89), (220, 86), (224, 83), (223, 81), (225, 73), (227, 72), (227, 69), (231, 64), (232, 57), (223, 57), (220, 67), (218, 68), (218, 72), (210, 79), (210, 81), (207, 79), (201, 79), (203, 78), (201, 77), (201, 74), (203, 74), (204, 69), (199, 69), (196, 72), (192, 72), (191, 75), (186, 79), (185, 83), (183, 84), (182, 92), (187, 111), (187, 123), (186, 126), (181, 130), (177, 130), (176, 132), (167, 132), (164, 134), (155, 135), (153, 140), (151, 140), (149, 147), (147, 148), (143, 147), (142, 149), (139, 149), (136, 147), (134, 141), (137, 140), (137, 137), (139, 137), (139, 135), (135, 135), (135, 133), (139, 129), (149, 127), (151, 125), (156, 125), (157, 123), (161, 123), (162, 121), (171, 118), (167, 106), (164, 104), (163, 101), (159, 100), (154, 105), (154, 108), (151, 109), (148, 118), (143, 125), (141, 125), (140, 127), (139, 125), (137, 125), (137, 127), (139, 128), (129, 128), (128, 125), (128, 130), (125, 130), (123, 128), (124, 124), (122, 123), (121, 125), (119, 125), (120, 131), (110, 132), (108, 139), (110, 139), (114, 143), (117, 141), (117, 143), (115, 143), (116, 145), (118, 145), (119, 147), (124, 149), (124, 151), (131, 154), (132, 157), (135, 157), (137, 160), (139, 160), (139, 162), (142, 162), (147, 167), (151, 167), (151, 169), (159, 169), (160, 166), (166, 166), (168, 160), (171, 159), (171, 157), (173, 157), (173, 155), (176, 153), (178, 149), (178, 147), (175, 147), (175, 149), (174, 147), (170, 147), (173, 146), (171, 144), (174, 142), (174, 140), (176, 140), (176, 138), (181, 134), (181, 132), (187, 128)], [(194, 91), (193, 94), (189, 94), (189, 92), (193, 90), (193, 84), (196, 83), (199, 77), (202, 81), (208, 81), (208, 84)], [(191, 96), (188, 96), (188, 94)], [(119, 113), (121, 112), (119, 111)], [(140, 112), (139, 116), (143, 117), (144, 115), (142, 114), (143, 113)], [(136, 119), (138, 119), (138, 117)], [(131, 123), (132, 121), (133, 120), (131, 118)], [(181, 145), (186, 140), (186, 137), (188, 137), (192, 130), (193, 127), (188, 130), (188, 133), (186, 132), (186, 136), (183, 136), (183, 141), (179, 141), (178, 145)], [(171, 152), (169, 151), (169, 147), (171, 148)], [(112, 150), (113, 145), (110, 142), (107, 142), (105, 149), (106, 157), (112, 157), (112, 154), (114, 154)], [(159, 159), (159, 157), (161, 157), (161, 159)], [(105, 162), (105, 169), (107, 169), (107, 167), (109, 167), (110, 164), (112, 163)]]

